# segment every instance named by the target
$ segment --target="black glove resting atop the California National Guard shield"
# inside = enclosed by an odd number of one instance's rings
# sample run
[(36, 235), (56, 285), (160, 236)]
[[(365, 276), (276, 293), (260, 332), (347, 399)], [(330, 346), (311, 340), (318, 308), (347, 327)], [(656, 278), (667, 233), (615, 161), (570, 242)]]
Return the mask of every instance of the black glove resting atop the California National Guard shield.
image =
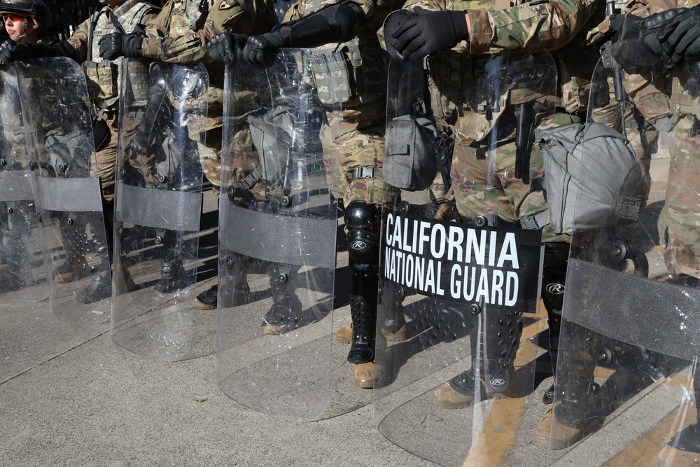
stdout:
[(386, 41), (405, 58), (421, 60), (469, 39), (465, 11), (428, 11), (416, 6), (413, 13), (394, 31), (384, 27)]

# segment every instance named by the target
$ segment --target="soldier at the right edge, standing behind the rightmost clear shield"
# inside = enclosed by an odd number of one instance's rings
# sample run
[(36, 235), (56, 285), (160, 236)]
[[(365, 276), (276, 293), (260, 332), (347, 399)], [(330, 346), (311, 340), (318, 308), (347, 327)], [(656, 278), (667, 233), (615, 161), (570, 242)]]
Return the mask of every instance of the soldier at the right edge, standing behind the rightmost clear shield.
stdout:
[[(676, 5), (682, 4), (685, 2), (678, 2)], [(699, 169), (696, 153), (699, 128), (697, 59), (700, 56), (700, 9), (694, 6), (667, 11), (668, 6), (666, 2), (633, 2), (628, 5), (628, 11), (632, 15), (646, 17), (652, 13), (663, 13), (652, 14), (644, 21), (633, 19), (630, 15), (626, 18), (613, 15), (609, 22), (601, 25), (600, 30), (607, 34), (621, 31), (618, 33), (622, 36), (620, 45), (624, 47), (612, 49), (613, 57), (626, 72), (625, 88), (644, 91), (629, 93), (640, 113), (649, 120), (652, 120), (653, 116), (669, 117), (665, 131), (671, 163), (664, 207), (657, 222), (644, 220), (640, 214), (635, 219), (635, 224), (638, 224), (635, 226), (637, 230), (652, 232), (654, 225), (650, 224), (657, 224), (658, 238), (663, 251), (661, 254), (647, 253), (648, 259), (645, 259), (645, 262), (650, 263), (651, 269), (654, 266), (652, 261), (657, 260), (661, 267), (666, 266), (670, 274), (668, 277), (661, 274), (654, 277), (649, 274), (649, 277), (644, 276), (640, 279), (638, 284), (629, 284), (626, 290), (630, 295), (640, 294), (647, 298), (637, 307), (631, 302), (620, 310), (615, 305), (593, 305), (584, 309), (584, 312), (596, 307), (603, 314), (618, 313), (616, 319), (619, 323), (629, 319), (626, 314), (633, 314), (634, 319), (643, 321), (645, 324), (640, 328), (648, 328), (649, 335), (643, 335), (644, 329), (619, 326), (625, 333), (623, 342), (633, 342), (636, 345), (631, 348), (619, 342), (616, 342), (614, 347), (608, 345), (608, 349), (617, 347), (615, 353), (619, 354), (612, 354), (607, 358), (608, 364), (614, 362), (618, 366), (614, 376), (636, 370), (633, 372), (638, 379), (636, 383), (647, 386), (661, 379), (654, 377), (652, 380), (647, 375), (654, 375), (655, 371), (664, 375), (669, 370), (673, 371), (674, 364), (680, 368), (689, 364), (694, 391), (694, 398), (691, 400), (694, 399), (692, 402), (697, 407), (700, 403), (700, 374), (696, 362), (696, 347), (687, 344), (694, 341), (696, 331), (690, 330), (692, 325), (684, 322), (685, 316), (681, 317), (680, 326), (674, 320), (667, 326), (650, 326), (646, 324), (647, 318), (638, 313), (639, 309), (643, 312), (648, 310), (650, 319), (661, 316), (661, 320), (665, 321), (667, 318), (663, 310), (684, 309), (685, 297), (689, 294), (695, 296), (694, 289), (700, 284), (700, 267), (696, 260), (700, 235), (696, 225), (689, 222), (689, 219), (696, 215), (699, 203), (697, 190), (694, 188), (694, 177)], [(645, 225), (645, 222), (648, 224)], [(638, 245), (631, 243), (630, 247), (636, 249)], [(605, 268), (602, 270), (605, 271)], [(612, 280), (617, 281), (618, 277), (625, 276), (617, 273), (617, 277)], [(610, 281), (611, 277), (605, 277), (604, 280)], [(599, 290), (593, 290), (591, 295), (597, 292)], [(610, 302), (610, 296), (606, 296), (610, 293), (599, 295), (601, 303)], [(648, 300), (649, 297), (657, 297), (659, 302)], [(614, 377), (608, 378), (602, 386), (594, 382), (596, 352), (600, 352), (603, 347), (601, 335), (614, 336), (605, 333), (614, 331), (606, 329), (596, 332), (583, 326), (570, 326), (568, 322), (566, 324), (565, 329), (570, 329), (566, 330), (568, 355), (557, 379), (557, 386), (561, 386), (562, 391), (557, 391), (557, 403), (547, 412), (533, 438), (535, 444), (549, 445), (549, 449), (564, 449), (589, 433), (597, 431), (603, 426), (604, 417), (626, 400), (622, 391), (625, 385), (615, 385), (611, 381)], [(607, 323), (606, 327), (614, 329), (618, 327), (616, 324)], [(634, 337), (629, 339), (632, 335)], [(563, 337), (562, 344), (565, 342)], [(659, 341), (674, 342), (675, 346), (662, 346), (661, 351), (658, 351), (654, 342)], [(685, 356), (687, 361), (679, 364), (675, 358), (668, 356)], [(641, 365), (640, 361), (644, 365)], [(668, 431), (673, 433), (672, 430), (680, 430), (675, 435), (665, 435), (664, 440), (668, 439), (666, 444), (658, 453), (651, 453), (657, 454), (657, 466), (696, 466), (700, 463), (700, 418), (685, 406), (689, 399), (688, 386), (690, 384), (682, 387), (682, 407), (676, 414), (677, 420)], [(664, 399), (668, 397), (664, 395)], [(577, 454), (568, 452), (570, 459), (575, 459)], [(636, 459), (642, 461), (638, 455)]]

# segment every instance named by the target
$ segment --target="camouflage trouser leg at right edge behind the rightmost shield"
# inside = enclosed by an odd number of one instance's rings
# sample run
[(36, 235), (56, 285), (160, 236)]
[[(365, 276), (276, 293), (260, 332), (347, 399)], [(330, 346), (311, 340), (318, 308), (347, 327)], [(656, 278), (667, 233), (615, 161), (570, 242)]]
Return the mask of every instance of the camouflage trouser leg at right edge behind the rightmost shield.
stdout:
[(668, 271), (700, 278), (700, 136), (692, 135), (692, 124), (687, 117), (673, 130), (666, 202), (658, 225)]

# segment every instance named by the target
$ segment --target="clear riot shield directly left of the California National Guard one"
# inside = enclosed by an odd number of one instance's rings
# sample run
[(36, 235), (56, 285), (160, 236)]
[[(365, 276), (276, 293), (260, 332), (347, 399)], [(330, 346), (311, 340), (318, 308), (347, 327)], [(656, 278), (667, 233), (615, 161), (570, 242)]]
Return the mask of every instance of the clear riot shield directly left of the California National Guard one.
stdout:
[(333, 79), (328, 55), (297, 49), (226, 75), (216, 378), (233, 400), (297, 421), (330, 400)]

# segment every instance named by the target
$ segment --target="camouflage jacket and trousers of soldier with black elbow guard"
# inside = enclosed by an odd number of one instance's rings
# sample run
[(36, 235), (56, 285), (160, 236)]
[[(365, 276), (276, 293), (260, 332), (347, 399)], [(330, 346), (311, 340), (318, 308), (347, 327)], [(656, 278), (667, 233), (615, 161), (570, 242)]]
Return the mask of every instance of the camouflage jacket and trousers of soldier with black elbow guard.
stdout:
[[(373, 169), (381, 169), (384, 162), (387, 64), (377, 30), (386, 15), (400, 3), (398, 0), (353, 1), (367, 15), (356, 39), (328, 44), (320, 49), (329, 53), (345, 51), (353, 64), (355, 76), (351, 81), (355, 88), (350, 90), (351, 97), (343, 102), (342, 116), (339, 116), (342, 118), (340, 134), (331, 135), (330, 128), (325, 127), (321, 136), (325, 148), (339, 145), (339, 160), (335, 160), (335, 155), (325, 160), (333, 195), (345, 205), (356, 200), (379, 205), (383, 197), (383, 181)], [(284, 21), (298, 20), (322, 6), (335, 3), (334, 0), (300, 0), (287, 11)], [(322, 88), (319, 92), (323, 92)], [(331, 139), (335, 139), (335, 143)], [(363, 171), (363, 168), (368, 170)]]

